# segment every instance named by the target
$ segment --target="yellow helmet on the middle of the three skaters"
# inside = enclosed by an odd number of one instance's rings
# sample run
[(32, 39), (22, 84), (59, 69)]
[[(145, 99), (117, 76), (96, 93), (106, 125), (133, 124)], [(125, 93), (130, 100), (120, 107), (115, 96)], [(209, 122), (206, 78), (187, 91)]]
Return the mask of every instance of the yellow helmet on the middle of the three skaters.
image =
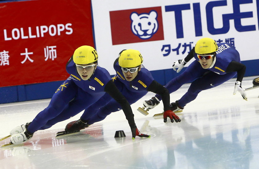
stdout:
[(138, 50), (123, 50), (119, 56), (119, 65), (121, 67), (137, 67), (142, 62), (143, 58)]

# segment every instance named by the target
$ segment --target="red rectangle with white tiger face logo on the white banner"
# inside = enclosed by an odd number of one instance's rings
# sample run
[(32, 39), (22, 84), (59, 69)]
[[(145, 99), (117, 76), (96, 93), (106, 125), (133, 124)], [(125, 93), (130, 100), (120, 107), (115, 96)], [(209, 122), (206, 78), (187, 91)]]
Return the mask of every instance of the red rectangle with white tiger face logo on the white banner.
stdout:
[(113, 45), (164, 40), (161, 6), (109, 13)]

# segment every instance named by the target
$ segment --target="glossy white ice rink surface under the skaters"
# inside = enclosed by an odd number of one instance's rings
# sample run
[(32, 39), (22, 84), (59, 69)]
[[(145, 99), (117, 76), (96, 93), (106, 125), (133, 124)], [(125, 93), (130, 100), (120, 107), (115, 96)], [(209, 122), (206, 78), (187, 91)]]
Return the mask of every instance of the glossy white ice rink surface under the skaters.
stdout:
[[(243, 88), (252, 87), (256, 76), (245, 77)], [(259, 168), (259, 88), (246, 91), (248, 101), (239, 92), (233, 95), (235, 79), (202, 91), (177, 113), (180, 123), (163, 122), (160, 103), (144, 116), (137, 111), (149, 92), (131, 107), (135, 122), (150, 138), (131, 139), (131, 131), (122, 111), (79, 133), (55, 137), (67, 123), (78, 120), (82, 112), (50, 129), (35, 132), (29, 141), (0, 149), (1, 169), (258, 169)], [(171, 102), (187, 91), (190, 83), (170, 95)], [(0, 138), (32, 119), (47, 107), (50, 99), (0, 105)], [(123, 130), (126, 137), (114, 138)], [(6, 144), (10, 138), (0, 142)]]

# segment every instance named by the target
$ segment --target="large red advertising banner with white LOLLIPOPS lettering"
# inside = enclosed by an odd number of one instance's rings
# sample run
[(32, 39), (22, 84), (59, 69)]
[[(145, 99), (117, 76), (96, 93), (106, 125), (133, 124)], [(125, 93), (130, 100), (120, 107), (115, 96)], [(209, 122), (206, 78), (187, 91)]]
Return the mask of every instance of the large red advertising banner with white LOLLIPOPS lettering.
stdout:
[(66, 63), (94, 47), (90, 0), (0, 3), (0, 87), (65, 80)]

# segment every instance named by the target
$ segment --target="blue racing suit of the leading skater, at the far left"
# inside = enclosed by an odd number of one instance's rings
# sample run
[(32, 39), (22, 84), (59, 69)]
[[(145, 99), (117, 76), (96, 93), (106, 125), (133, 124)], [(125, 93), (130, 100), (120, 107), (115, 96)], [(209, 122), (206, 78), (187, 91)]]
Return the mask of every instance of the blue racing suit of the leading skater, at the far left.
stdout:
[(70, 76), (55, 91), (48, 107), (33, 119), (28, 126), (29, 132), (44, 130), (69, 119), (97, 102), (105, 93), (121, 105), (130, 127), (136, 127), (130, 104), (117, 89), (106, 69), (97, 66), (88, 80), (82, 80), (73, 59), (70, 59), (66, 70)]

